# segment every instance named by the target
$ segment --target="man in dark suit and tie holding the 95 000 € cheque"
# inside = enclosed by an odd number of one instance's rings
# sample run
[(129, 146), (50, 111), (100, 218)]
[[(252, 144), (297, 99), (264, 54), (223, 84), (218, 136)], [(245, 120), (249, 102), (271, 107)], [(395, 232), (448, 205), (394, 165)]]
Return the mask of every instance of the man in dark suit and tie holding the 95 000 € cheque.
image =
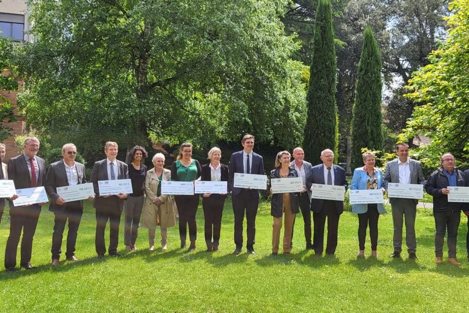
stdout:
[(109, 255), (118, 257), (117, 246), (119, 242), (119, 223), (121, 222), (122, 210), (124, 209), (124, 199), (127, 194), (121, 192), (113, 195), (99, 195), (98, 181), (129, 179), (129, 169), (127, 164), (116, 159), (119, 146), (113, 141), (107, 141), (104, 153), (107, 158), (95, 162), (91, 172), (91, 182), (95, 188), (95, 200), (93, 207), (96, 208), (96, 253), (98, 258), (102, 258), (106, 253), (106, 243), (104, 242), (104, 231), (107, 220), (109, 220)]

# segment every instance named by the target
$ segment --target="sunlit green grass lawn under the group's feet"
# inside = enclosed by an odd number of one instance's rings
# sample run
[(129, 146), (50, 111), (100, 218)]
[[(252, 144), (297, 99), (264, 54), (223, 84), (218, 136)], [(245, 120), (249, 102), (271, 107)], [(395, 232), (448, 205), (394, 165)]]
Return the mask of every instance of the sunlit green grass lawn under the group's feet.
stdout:
[[(2, 268), (9, 227), (6, 215), (0, 225)], [(248, 255), (244, 247), (243, 253), (235, 256), (231, 254), (235, 245), (230, 202), (223, 215), (220, 253), (204, 251), (199, 207), (194, 252), (179, 249), (177, 227), (169, 230), (167, 252), (159, 245), (156, 251), (148, 251), (145, 229), (140, 229), (137, 239), (139, 250), (126, 252), (121, 223), (118, 252), (122, 257), (97, 259), (95, 216), (87, 204), (77, 240), (76, 255), (81, 261), (61, 262), (52, 268), (53, 214), (44, 209), (33, 244), (32, 263), (38, 268), (0, 272), (0, 311), (467, 312), (466, 220), (461, 217), (458, 236), (459, 260), (464, 261), (460, 268), (446, 262), (434, 264), (434, 223), (428, 210), (418, 212), (416, 262), (407, 260), (407, 253), (402, 253), (403, 259), (389, 259), (393, 250), (390, 214), (379, 220), (378, 259), (369, 258), (367, 241), (367, 258), (357, 260), (358, 219), (348, 212), (339, 223), (337, 258), (317, 258), (311, 250), (305, 251), (301, 214), (297, 216), (292, 254), (272, 257), (269, 203), (262, 203), (257, 214), (257, 255)]]

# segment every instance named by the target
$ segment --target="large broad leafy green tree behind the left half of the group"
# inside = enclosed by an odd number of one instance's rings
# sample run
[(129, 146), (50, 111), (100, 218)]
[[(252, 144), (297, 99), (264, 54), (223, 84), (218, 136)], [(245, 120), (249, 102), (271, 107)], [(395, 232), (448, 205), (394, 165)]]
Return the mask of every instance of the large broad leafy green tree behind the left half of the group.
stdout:
[(208, 145), (252, 132), (285, 148), (303, 138), (303, 68), (289, 60), (283, 1), (29, 4), (37, 43), (18, 57), (20, 104), (39, 130), (83, 145), (90, 134)]

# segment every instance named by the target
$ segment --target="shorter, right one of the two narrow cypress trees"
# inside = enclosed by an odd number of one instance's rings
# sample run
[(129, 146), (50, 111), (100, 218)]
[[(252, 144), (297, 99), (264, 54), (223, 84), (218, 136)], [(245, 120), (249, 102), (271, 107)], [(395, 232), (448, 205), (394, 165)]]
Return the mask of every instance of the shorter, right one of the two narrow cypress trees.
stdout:
[(381, 124), (381, 52), (370, 27), (365, 29), (358, 63), (357, 88), (351, 123), (351, 168), (363, 166), (362, 148), (383, 149)]

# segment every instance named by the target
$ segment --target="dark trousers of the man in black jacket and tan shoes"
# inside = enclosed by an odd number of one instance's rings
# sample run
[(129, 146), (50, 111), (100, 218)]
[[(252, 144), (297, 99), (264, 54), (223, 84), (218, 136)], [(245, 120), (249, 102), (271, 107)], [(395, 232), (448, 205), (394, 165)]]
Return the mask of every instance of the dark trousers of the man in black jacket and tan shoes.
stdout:
[(435, 256), (443, 258), (443, 243), (448, 229), (448, 258), (456, 258), (456, 239), (461, 211), (433, 211), (433, 217), (435, 219)]

